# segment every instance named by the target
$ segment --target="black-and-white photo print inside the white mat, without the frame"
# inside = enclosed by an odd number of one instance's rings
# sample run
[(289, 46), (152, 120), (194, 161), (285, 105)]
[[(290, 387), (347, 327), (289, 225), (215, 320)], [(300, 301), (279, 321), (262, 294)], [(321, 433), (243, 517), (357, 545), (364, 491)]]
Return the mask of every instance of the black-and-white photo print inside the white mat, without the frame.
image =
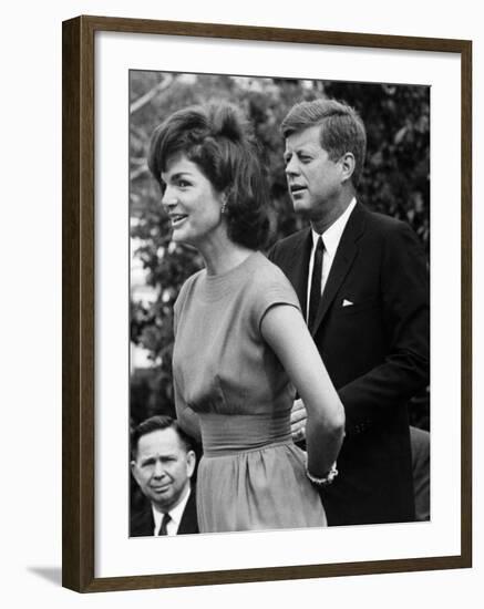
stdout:
[(426, 526), (431, 87), (128, 82), (128, 536)]

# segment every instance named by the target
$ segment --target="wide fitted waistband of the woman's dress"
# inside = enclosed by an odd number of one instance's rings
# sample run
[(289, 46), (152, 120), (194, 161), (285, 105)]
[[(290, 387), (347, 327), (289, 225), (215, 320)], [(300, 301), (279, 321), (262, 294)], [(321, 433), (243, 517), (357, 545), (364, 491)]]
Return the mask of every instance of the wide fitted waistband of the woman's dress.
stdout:
[(292, 442), (290, 411), (281, 414), (199, 413), (204, 456), (223, 456)]

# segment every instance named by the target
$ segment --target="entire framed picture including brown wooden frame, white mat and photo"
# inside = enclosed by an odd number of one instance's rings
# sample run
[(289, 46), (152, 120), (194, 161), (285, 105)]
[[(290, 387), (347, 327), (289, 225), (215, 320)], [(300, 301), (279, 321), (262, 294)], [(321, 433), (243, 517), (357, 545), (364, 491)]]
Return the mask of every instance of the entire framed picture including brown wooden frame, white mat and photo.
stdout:
[(63, 40), (64, 586), (468, 566), (466, 41)]

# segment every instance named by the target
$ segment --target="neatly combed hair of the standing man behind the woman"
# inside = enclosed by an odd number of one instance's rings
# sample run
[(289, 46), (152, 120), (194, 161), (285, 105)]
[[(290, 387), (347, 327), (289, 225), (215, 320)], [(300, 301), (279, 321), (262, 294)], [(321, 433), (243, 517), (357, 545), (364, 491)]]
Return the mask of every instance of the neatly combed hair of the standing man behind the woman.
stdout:
[(291, 107), (280, 126), (284, 137), (320, 125), (320, 144), (331, 161), (338, 161), (350, 152), (354, 156), (351, 176), (358, 186), (367, 153), (367, 132), (359, 114), (351, 106), (337, 100), (301, 102)]

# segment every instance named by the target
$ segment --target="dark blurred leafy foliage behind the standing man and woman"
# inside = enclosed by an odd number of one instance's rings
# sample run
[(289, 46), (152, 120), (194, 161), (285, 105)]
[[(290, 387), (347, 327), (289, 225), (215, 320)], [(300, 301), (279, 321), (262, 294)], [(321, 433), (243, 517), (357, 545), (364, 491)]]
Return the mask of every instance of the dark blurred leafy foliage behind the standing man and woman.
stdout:
[[(182, 283), (203, 264), (195, 250), (171, 244), (159, 189), (146, 166), (153, 130), (175, 110), (213, 99), (227, 100), (244, 109), (260, 142), (270, 187), (270, 246), (302, 226), (292, 213), (286, 189), (281, 120), (301, 100), (328, 96), (349, 103), (362, 116), (368, 132), (359, 199), (373, 210), (406, 220), (429, 252), (429, 87), (132, 71), (130, 95), (132, 254), (141, 260), (144, 281), (153, 290), (148, 301), (132, 290), (132, 345), (145, 349), (152, 363), (132, 373), (132, 424), (153, 414), (174, 414), (173, 303)], [(429, 429), (428, 391), (415, 396), (411, 404), (411, 421)]]

